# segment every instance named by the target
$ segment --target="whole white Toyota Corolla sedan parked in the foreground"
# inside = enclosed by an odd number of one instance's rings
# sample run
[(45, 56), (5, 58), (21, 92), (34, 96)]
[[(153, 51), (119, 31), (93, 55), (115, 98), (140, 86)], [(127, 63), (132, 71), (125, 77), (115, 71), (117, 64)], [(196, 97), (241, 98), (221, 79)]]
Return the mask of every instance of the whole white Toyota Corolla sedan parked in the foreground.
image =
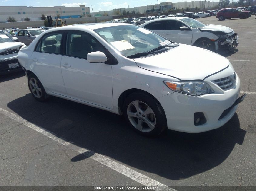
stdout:
[(244, 97), (228, 59), (131, 24), (47, 30), (18, 60), (36, 100), (52, 95), (124, 114), (143, 135), (216, 129)]

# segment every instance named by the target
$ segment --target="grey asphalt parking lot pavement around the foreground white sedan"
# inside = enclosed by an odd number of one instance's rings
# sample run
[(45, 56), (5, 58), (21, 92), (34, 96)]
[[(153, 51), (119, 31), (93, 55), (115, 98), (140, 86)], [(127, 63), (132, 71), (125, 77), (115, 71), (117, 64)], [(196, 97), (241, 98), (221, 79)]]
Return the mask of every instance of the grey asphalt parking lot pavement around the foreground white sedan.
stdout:
[(256, 186), (255, 18), (198, 19), (238, 33), (237, 51), (223, 56), (247, 93), (209, 132), (147, 138), (122, 116), (57, 97), (36, 101), (23, 72), (1, 76), (0, 186)]

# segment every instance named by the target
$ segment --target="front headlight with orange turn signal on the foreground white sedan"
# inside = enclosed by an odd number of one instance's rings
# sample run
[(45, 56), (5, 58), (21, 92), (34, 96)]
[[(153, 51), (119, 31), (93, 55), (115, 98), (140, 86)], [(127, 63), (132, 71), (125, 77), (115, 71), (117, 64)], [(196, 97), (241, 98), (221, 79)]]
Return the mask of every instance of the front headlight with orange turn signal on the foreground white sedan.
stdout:
[(213, 89), (204, 81), (164, 81), (164, 83), (173, 91), (192, 96), (214, 93)]

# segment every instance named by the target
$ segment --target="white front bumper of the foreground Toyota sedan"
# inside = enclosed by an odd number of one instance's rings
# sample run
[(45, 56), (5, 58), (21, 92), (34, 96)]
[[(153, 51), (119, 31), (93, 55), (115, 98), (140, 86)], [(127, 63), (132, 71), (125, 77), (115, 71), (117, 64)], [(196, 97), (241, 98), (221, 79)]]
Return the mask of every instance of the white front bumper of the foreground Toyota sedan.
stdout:
[[(221, 72), (220, 72), (221, 73)], [(209, 77), (214, 78), (214, 77)], [(207, 79), (205, 80), (210, 83)], [(214, 87), (219, 88), (219, 87)], [(158, 98), (161, 103), (166, 119), (168, 129), (199, 133), (219, 128), (227, 123), (234, 115), (237, 105), (230, 108), (237, 100), (240, 93), (240, 79), (237, 76), (233, 88), (223, 91), (221, 88), (216, 89), (213, 94), (201, 95), (198, 97), (174, 92)], [(228, 112), (225, 113), (225, 110)], [(203, 113), (206, 123), (195, 125), (195, 113)]]

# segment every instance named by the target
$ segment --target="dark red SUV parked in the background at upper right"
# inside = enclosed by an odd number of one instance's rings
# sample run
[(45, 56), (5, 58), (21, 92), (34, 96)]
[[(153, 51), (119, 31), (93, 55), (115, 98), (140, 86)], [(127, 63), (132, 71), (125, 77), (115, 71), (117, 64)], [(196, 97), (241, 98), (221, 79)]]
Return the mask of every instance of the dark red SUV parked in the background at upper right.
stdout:
[(251, 17), (250, 11), (242, 11), (238, 8), (227, 8), (227, 9), (221, 9), (217, 15), (216, 18), (219, 20), (225, 20), (225, 19), (231, 19), (231, 18), (248, 18)]

